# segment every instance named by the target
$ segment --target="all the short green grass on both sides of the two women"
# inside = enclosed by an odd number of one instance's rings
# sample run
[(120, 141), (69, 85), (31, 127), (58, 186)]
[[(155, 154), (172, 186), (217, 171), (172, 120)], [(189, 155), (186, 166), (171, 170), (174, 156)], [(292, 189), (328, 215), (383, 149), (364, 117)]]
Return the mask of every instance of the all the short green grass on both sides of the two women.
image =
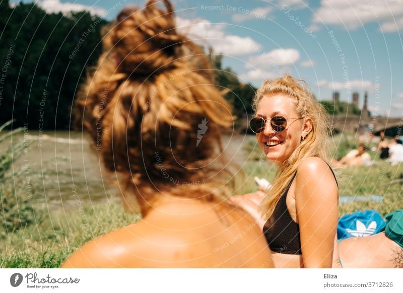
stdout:
[[(340, 150), (334, 154), (343, 154), (348, 150), (352, 138), (335, 137)], [(244, 148), (251, 154), (242, 166), (246, 175), (243, 191), (256, 189), (254, 176), (271, 181), (275, 174), (274, 165), (267, 164), (261, 157), (258, 146), (250, 139)], [(347, 149), (346, 149), (347, 148)], [(370, 153), (375, 158), (375, 153)], [(395, 209), (403, 208), (401, 184), (389, 182), (399, 178), (403, 166), (390, 166), (377, 160), (371, 167), (350, 167), (336, 170), (340, 195), (383, 195), (381, 202), (353, 201), (340, 205), (340, 215), (362, 209), (376, 209), (383, 216)], [(0, 267), (2, 268), (53, 268), (59, 267), (63, 260), (85, 242), (112, 230), (138, 221), (135, 214), (123, 210), (118, 200), (109, 199), (107, 203), (92, 204), (83, 202), (83, 210), (78, 205), (64, 211), (60, 208), (42, 207), (42, 218), (34, 225), (8, 233), (0, 238)]]

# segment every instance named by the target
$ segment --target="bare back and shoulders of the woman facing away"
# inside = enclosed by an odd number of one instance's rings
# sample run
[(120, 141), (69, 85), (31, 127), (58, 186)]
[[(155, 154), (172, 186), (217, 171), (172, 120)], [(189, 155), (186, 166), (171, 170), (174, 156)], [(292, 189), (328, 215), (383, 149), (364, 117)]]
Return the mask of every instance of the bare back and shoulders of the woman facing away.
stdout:
[(257, 224), (239, 208), (171, 198), (80, 248), (62, 267), (273, 267)]

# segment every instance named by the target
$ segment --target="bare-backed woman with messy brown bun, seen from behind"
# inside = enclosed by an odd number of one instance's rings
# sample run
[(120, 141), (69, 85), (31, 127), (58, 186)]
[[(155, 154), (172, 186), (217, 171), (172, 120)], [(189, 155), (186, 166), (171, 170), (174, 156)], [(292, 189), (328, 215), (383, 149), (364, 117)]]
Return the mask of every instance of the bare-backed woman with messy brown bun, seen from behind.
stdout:
[(77, 102), (78, 125), (143, 218), (89, 241), (62, 267), (272, 267), (253, 218), (223, 200), (230, 107), (162, 4), (119, 13)]

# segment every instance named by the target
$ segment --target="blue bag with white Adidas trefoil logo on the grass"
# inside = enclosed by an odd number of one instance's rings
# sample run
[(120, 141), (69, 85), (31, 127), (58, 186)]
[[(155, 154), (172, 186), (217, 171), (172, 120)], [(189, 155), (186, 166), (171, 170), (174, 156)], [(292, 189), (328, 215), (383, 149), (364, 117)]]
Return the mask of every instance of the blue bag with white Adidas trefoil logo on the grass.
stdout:
[(337, 238), (366, 237), (377, 234), (385, 227), (385, 221), (376, 210), (356, 211), (339, 218)]

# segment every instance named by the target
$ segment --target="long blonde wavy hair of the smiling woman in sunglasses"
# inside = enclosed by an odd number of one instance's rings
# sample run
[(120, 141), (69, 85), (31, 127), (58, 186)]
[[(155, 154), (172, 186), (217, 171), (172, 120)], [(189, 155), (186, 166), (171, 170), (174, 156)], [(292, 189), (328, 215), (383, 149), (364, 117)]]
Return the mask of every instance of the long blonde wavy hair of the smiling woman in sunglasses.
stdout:
[(270, 218), (273, 214), (281, 195), (304, 159), (318, 157), (327, 162), (329, 157), (327, 148), (330, 134), (330, 129), (328, 128), (329, 115), (324, 107), (316, 101), (305, 82), (297, 81), (290, 75), (276, 80), (264, 81), (253, 99), (253, 109), (256, 111), (257, 105), (264, 96), (275, 94), (284, 94), (294, 98), (299, 117), (310, 118), (312, 130), (301, 139), (300, 145), (298, 145), (290, 158), (279, 166), (274, 183), (267, 190), (266, 196), (259, 206), (259, 211), (265, 218)]

